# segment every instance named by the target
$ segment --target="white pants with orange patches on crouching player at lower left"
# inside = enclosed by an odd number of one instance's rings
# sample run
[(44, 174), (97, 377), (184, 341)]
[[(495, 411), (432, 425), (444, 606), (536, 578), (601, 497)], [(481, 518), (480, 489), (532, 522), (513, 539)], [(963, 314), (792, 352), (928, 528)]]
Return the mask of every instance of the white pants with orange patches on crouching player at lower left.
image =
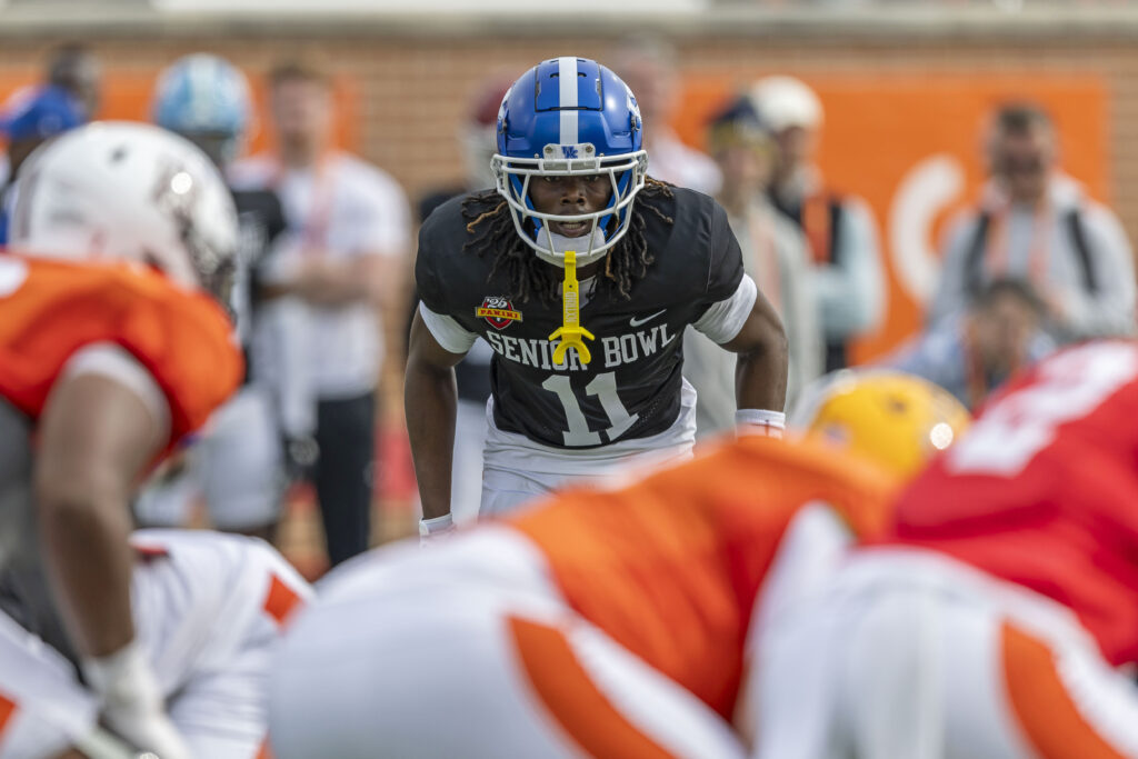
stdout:
[[(254, 759), (266, 678), (284, 621), (311, 597), (266, 543), (206, 530), (139, 530), (137, 640), (195, 757)], [(55, 757), (98, 718), (72, 665), (0, 614), (0, 757)]]

